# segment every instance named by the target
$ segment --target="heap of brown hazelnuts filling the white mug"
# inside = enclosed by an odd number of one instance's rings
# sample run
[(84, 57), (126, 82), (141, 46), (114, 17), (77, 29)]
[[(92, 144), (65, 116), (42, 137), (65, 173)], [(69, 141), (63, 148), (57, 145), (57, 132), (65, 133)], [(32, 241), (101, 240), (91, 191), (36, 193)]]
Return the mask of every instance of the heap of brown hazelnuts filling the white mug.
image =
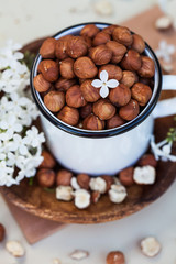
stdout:
[[(63, 122), (86, 130), (117, 128), (136, 118), (152, 97), (155, 65), (144, 50), (143, 38), (125, 26), (87, 24), (80, 35), (43, 42), (33, 84)], [(91, 84), (102, 70), (119, 81), (107, 98)]]

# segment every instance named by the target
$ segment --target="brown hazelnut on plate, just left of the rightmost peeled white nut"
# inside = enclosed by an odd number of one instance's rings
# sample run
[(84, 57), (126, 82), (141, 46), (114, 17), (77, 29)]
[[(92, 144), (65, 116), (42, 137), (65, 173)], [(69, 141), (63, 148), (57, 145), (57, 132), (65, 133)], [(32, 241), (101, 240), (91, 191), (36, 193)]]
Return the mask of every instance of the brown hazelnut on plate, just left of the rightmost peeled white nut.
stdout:
[(134, 174), (133, 167), (128, 167), (128, 168), (122, 169), (119, 173), (119, 179), (120, 179), (121, 184), (124, 186), (133, 185), (134, 184), (133, 174)]

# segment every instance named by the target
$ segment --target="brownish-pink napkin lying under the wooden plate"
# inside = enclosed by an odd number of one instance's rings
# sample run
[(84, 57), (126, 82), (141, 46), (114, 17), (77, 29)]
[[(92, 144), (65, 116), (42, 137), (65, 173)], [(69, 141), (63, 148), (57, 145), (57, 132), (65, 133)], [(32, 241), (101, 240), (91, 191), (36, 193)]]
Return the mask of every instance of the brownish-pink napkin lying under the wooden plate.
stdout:
[[(155, 29), (155, 21), (161, 15), (163, 15), (163, 13), (160, 8), (154, 7), (138, 16), (123, 22), (122, 24), (141, 34), (154, 50), (158, 46), (158, 42), (163, 38), (168, 43), (176, 44), (176, 34), (174, 34), (173, 31), (160, 32)], [(174, 64), (176, 73), (176, 59)], [(8, 206), (29, 243), (35, 243), (36, 241), (40, 241), (58, 231), (63, 227), (66, 227), (64, 223), (42, 219), (22, 211), (10, 202), (8, 202)]]

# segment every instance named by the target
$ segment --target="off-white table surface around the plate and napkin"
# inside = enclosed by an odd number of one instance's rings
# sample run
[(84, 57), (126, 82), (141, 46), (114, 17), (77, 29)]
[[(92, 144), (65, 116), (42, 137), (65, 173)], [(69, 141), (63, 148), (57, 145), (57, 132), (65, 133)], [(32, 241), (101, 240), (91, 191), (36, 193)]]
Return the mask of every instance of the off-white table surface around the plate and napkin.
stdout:
[[(8, 38), (25, 44), (41, 36), (52, 35), (63, 28), (87, 21), (122, 22), (152, 7), (156, 0), (112, 0), (114, 13), (98, 15), (94, 0), (0, 0), (0, 46)], [(70, 11), (72, 10), (72, 11)], [(73, 12), (75, 10), (75, 12)], [(75, 249), (90, 252), (79, 263), (106, 263), (109, 251), (121, 250), (128, 264), (176, 263), (176, 183), (157, 201), (125, 219), (92, 226), (70, 224), (47, 239), (29, 245), (20, 228), (0, 196), (0, 222), (7, 229), (7, 240), (19, 240), (26, 250), (25, 257), (15, 260), (0, 244), (0, 264), (52, 264), (59, 257), (63, 264), (74, 264), (68, 254)], [(147, 235), (156, 237), (163, 246), (154, 258), (143, 256), (139, 242)]]

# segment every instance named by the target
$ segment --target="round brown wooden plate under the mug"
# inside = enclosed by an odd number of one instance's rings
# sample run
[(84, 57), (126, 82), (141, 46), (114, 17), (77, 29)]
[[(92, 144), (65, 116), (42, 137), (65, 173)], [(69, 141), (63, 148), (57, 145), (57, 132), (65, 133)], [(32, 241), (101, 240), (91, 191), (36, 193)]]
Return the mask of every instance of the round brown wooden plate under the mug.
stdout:
[[(36, 52), (42, 42), (43, 38), (32, 42), (24, 46), (23, 51)], [(173, 117), (156, 120), (154, 132), (156, 141), (162, 141), (168, 129), (174, 125)], [(75, 208), (73, 201), (56, 200), (55, 194), (51, 194), (37, 185), (29, 186), (26, 179), (19, 186), (1, 187), (0, 190), (12, 204), (41, 218), (66, 223), (99, 223), (124, 218), (155, 201), (172, 185), (175, 172), (176, 163), (160, 162), (157, 179), (154, 185), (131, 186), (128, 188), (128, 198), (120, 205), (112, 204), (108, 196), (102, 196), (97, 205), (91, 205), (85, 210)]]

